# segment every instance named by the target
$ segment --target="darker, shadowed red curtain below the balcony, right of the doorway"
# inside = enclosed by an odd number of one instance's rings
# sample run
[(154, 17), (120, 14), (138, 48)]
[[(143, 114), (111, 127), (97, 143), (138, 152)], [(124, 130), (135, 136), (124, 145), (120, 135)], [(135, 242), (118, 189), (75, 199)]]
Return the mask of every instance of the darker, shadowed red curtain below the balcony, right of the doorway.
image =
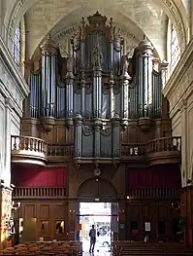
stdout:
[(151, 168), (128, 170), (129, 189), (180, 188), (178, 165), (159, 165)]

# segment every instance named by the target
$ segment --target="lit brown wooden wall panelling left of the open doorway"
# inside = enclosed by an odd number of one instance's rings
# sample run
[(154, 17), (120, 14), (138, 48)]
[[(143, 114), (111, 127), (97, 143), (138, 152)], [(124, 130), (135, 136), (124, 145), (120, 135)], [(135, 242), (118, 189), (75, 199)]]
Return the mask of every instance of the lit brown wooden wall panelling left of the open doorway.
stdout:
[[(39, 240), (65, 240), (67, 236), (67, 203), (63, 200), (20, 200), (16, 218), (23, 218), (23, 228), (27, 230), (29, 219), (35, 218), (33, 236), (21, 238), (22, 242)], [(29, 240), (31, 239), (31, 240)]]

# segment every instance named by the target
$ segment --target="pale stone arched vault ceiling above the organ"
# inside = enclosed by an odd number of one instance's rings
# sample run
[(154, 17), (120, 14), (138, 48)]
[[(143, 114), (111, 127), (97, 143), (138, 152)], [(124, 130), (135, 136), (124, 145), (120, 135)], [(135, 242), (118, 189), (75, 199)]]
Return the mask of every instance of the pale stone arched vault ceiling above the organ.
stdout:
[(80, 24), (81, 17), (99, 11), (123, 27), (135, 42), (149, 38), (162, 59), (166, 53), (167, 17), (177, 26), (181, 48), (187, 43), (188, 18), (181, 0), (4, 0), (9, 9), (4, 23), (13, 36), (16, 24), (25, 15), (28, 52), (32, 56), (48, 33), (53, 37)]

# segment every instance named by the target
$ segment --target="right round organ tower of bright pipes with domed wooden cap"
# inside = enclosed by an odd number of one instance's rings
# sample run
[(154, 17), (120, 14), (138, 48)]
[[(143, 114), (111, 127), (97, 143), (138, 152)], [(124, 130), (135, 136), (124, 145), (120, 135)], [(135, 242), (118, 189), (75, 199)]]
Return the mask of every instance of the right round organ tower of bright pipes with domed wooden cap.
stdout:
[(139, 117), (150, 117), (152, 107), (152, 57), (150, 42), (143, 40), (137, 50), (137, 81), (139, 87)]

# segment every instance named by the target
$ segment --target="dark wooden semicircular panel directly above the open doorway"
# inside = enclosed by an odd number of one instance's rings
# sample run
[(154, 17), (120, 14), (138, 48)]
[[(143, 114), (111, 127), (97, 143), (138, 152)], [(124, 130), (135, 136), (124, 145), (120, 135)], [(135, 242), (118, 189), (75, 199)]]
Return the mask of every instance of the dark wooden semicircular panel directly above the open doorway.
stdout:
[(110, 181), (97, 177), (82, 182), (77, 197), (79, 201), (116, 201), (117, 192)]

